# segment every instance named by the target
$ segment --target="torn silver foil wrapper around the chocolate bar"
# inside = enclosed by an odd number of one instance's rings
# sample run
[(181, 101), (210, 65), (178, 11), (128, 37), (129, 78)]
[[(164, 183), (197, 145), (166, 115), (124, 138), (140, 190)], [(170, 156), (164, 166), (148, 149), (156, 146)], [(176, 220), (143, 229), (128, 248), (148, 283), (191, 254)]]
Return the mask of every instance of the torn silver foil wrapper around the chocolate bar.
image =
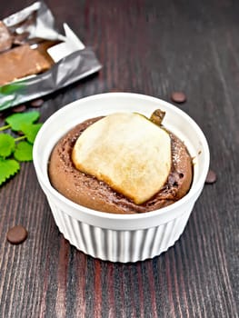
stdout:
[(71, 28), (64, 24), (65, 35), (55, 28), (55, 17), (44, 2), (3, 19), (15, 45), (32, 48), (43, 41), (55, 41), (47, 49), (54, 61), (49, 70), (0, 86), (0, 111), (51, 94), (60, 88), (92, 75), (102, 67), (94, 51), (85, 47)]

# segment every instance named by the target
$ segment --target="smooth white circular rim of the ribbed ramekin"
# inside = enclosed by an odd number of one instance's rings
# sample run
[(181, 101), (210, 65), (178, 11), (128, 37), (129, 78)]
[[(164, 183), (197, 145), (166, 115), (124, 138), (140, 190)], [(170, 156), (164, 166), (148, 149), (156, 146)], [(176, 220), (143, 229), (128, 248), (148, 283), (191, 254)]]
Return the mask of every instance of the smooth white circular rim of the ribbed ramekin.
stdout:
[[(142, 213), (142, 214), (110, 214), (110, 213), (106, 213), (106, 212), (101, 212), (101, 211), (97, 211), (88, 207), (85, 207), (84, 205), (80, 205), (80, 204), (76, 204), (73, 201), (71, 201), (70, 199), (67, 199), (63, 194), (60, 194), (57, 190), (55, 190), (55, 188), (51, 185), (49, 177), (47, 179), (45, 179), (45, 176), (43, 176), (42, 172), (41, 172), (41, 168), (38, 165), (38, 160), (37, 160), (37, 148), (38, 148), (38, 144), (41, 140), (42, 134), (44, 134), (45, 131), (45, 127), (49, 124), (51, 124), (54, 120), (55, 117), (65, 113), (65, 111), (67, 111), (69, 108), (72, 108), (75, 106), (75, 104), (83, 104), (87, 101), (91, 101), (91, 100), (95, 100), (95, 99), (99, 99), (99, 98), (105, 98), (107, 96), (110, 95), (115, 95), (115, 96), (133, 96), (133, 97), (137, 97), (137, 98), (141, 98), (144, 100), (152, 100), (155, 102), (160, 102), (160, 104), (164, 104), (166, 107), (170, 107), (172, 108), (172, 110), (174, 111), (174, 113), (176, 114), (181, 114), (184, 116), (184, 118), (189, 121), (191, 124), (194, 125), (194, 129), (196, 130), (196, 133), (200, 136), (200, 142), (202, 144), (202, 149), (204, 149), (204, 171), (202, 172), (202, 174), (199, 175), (198, 181), (196, 182), (196, 184), (194, 184), (193, 187), (191, 187), (191, 189), (189, 190), (189, 192), (187, 194), (184, 195), (183, 198), (181, 198), (180, 200), (178, 200), (177, 202), (175, 202), (174, 204), (170, 204), (168, 206), (165, 206), (163, 208), (160, 208), (158, 210), (154, 210), (151, 211), (149, 213)], [(201, 128), (199, 127), (198, 124), (195, 123), (194, 119), (192, 117), (190, 117), (188, 114), (186, 114), (183, 110), (181, 110), (180, 108), (178, 108), (177, 106), (175, 106), (174, 104), (168, 103), (160, 98), (151, 96), (151, 95), (146, 95), (146, 94), (137, 94), (137, 93), (127, 93), (127, 92), (112, 92), (112, 93), (102, 93), (102, 94), (93, 94), (93, 95), (89, 95), (89, 96), (85, 96), (83, 98), (80, 98), (78, 100), (75, 100), (74, 102), (71, 102), (69, 104), (66, 104), (65, 106), (61, 107), (59, 110), (57, 110), (54, 114), (51, 114), (46, 120), (45, 123), (42, 125), (42, 127), (40, 128), (38, 134), (36, 135), (35, 138), (35, 144), (34, 144), (34, 149), (33, 149), (33, 162), (34, 162), (34, 166), (35, 166), (35, 172), (37, 174), (37, 177), (40, 178), (40, 182), (41, 184), (44, 184), (45, 188), (47, 189), (47, 191), (49, 191), (50, 194), (52, 194), (55, 198), (57, 198), (57, 200), (60, 200), (61, 203), (63, 204), (67, 204), (69, 207), (74, 208), (75, 210), (78, 210), (81, 213), (85, 213), (88, 216), (92, 216), (92, 217), (97, 217), (97, 218), (102, 218), (102, 219), (111, 219), (111, 220), (120, 220), (120, 221), (127, 221), (127, 220), (144, 220), (144, 219), (149, 219), (155, 216), (160, 216), (163, 214), (168, 214), (170, 211), (172, 210), (176, 210), (178, 209), (180, 206), (182, 206), (183, 204), (185, 204), (186, 202), (188, 202), (191, 198), (194, 197), (194, 195), (196, 194), (200, 194), (201, 192), (201, 188), (204, 185), (204, 180), (206, 177), (206, 174), (208, 172), (209, 169), (209, 162), (210, 162), (210, 153), (209, 153), (209, 146), (208, 143), (206, 141), (206, 138), (204, 136), (203, 131), (201, 130)], [(197, 196), (198, 196), (197, 195)], [(195, 201), (195, 200), (194, 200)]]

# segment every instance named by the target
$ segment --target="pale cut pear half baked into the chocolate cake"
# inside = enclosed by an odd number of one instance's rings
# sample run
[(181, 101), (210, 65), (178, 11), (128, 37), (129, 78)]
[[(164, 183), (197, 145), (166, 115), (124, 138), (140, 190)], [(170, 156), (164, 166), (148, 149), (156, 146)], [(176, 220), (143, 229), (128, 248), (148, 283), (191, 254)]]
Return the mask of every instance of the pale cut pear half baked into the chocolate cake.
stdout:
[(156, 194), (171, 170), (169, 134), (141, 114), (109, 114), (77, 139), (72, 160), (85, 174), (143, 204)]

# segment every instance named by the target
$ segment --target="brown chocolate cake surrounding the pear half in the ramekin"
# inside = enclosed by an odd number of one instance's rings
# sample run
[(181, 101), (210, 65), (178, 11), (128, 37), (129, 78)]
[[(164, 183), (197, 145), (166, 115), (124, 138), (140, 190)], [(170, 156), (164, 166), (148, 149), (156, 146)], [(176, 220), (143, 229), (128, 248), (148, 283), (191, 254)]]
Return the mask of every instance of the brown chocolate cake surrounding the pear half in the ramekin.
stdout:
[[(143, 204), (115, 191), (105, 181), (79, 171), (72, 160), (75, 143), (85, 129), (103, 117), (88, 119), (63, 136), (49, 158), (51, 184), (75, 204), (114, 214), (140, 214), (174, 204), (188, 193), (193, 180), (192, 158), (184, 143), (174, 134), (171, 138), (171, 168), (162, 188)], [(150, 183), (150, 180), (148, 181)]]

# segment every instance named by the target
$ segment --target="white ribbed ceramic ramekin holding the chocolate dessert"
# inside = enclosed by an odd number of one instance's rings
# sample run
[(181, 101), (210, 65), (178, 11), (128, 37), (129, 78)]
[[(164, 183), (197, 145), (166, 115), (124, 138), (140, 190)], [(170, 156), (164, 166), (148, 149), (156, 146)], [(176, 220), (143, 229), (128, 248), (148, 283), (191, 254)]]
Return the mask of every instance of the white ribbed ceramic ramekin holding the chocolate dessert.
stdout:
[[(194, 182), (184, 198), (150, 213), (107, 214), (75, 204), (52, 187), (47, 174), (49, 155), (60, 137), (76, 124), (115, 112), (150, 116), (156, 108), (166, 112), (164, 125), (184, 141), (194, 158)], [(198, 125), (174, 105), (143, 94), (108, 93), (75, 101), (49, 117), (35, 139), (34, 164), (55, 223), (65, 239), (93, 257), (126, 263), (159, 255), (174, 245), (184, 232), (204, 187), (209, 150)]]

